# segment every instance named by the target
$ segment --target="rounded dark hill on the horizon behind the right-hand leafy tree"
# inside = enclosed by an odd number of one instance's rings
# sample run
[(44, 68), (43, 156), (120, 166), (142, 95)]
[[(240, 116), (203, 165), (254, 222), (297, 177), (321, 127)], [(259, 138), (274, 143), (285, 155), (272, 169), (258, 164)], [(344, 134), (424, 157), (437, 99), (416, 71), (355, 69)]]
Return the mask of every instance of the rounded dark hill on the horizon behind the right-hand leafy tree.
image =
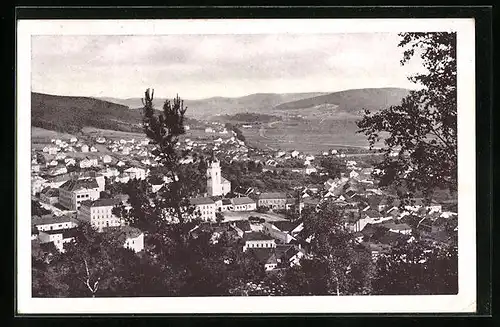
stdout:
[(361, 110), (380, 110), (384, 107), (398, 105), (408, 95), (409, 90), (402, 88), (367, 88), (335, 92), (307, 99), (281, 103), (275, 110), (297, 110), (334, 106), (337, 113), (359, 115)]

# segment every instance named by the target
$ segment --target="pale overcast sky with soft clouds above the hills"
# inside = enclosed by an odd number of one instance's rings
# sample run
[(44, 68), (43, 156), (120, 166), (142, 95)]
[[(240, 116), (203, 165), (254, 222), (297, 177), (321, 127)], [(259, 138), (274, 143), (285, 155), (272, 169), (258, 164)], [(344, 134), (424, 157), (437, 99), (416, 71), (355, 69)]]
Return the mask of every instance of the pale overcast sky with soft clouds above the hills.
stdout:
[(132, 98), (414, 88), (392, 33), (34, 36), (32, 90)]

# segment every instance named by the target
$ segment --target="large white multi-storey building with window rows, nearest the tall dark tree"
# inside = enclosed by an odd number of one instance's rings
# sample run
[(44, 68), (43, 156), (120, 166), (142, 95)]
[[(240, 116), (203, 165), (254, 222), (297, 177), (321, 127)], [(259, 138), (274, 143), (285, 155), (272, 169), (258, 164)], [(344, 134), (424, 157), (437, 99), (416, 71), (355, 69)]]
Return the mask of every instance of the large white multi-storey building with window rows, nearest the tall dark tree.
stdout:
[(120, 204), (119, 199), (86, 200), (80, 204), (78, 219), (90, 223), (99, 232), (105, 227), (122, 225), (122, 220), (113, 214), (113, 208)]

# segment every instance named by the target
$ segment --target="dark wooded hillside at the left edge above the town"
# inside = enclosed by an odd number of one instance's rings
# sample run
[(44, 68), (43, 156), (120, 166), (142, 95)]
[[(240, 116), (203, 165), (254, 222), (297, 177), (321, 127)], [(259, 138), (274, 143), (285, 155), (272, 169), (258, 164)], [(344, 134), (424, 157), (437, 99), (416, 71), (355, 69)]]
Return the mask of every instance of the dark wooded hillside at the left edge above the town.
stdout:
[(89, 97), (31, 93), (31, 125), (60, 132), (91, 126), (120, 131), (141, 130), (141, 112)]

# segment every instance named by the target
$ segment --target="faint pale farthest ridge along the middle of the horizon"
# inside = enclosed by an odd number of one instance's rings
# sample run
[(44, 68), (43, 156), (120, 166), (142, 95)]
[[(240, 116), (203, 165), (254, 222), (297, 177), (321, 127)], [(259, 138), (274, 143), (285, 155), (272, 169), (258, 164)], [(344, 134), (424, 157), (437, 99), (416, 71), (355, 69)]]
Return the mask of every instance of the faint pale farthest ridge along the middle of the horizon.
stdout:
[[(263, 112), (270, 113), (272, 108), (290, 101), (296, 101), (305, 98), (312, 98), (326, 92), (309, 93), (255, 93), (243, 97), (212, 97), (200, 100), (183, 99), (185, 106), (188, 107), (186, 115), (194, 118), (206, 119), (215, 115), (232, 115), (240, 112)], [(182, 95), (179, 95), (182, 99)], [(132, 109), (142, 107), (141, 98), (117, 99), (101, 98), (103, 100), (128, 106)], [(161, 109), (165, 98), (155, 98), (153, 104), (156, 109)]]

